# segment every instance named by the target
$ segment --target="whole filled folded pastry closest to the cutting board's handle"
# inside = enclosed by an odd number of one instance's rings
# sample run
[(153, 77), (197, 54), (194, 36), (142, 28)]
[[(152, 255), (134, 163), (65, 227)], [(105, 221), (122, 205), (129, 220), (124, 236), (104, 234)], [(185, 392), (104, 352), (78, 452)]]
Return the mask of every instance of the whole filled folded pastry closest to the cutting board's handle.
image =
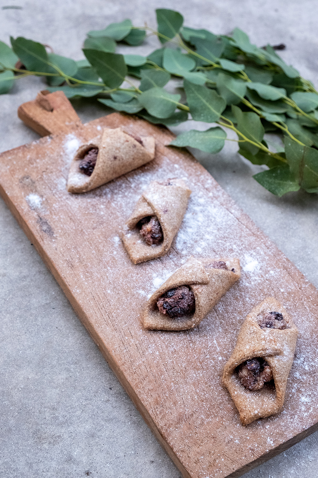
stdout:
[(85, 193), (108, 183), (154, 159), (154, 149), (151, 136), (132, 136), (120, 128), (104, 128), (100, 136), (77, 150), (67, 190)]

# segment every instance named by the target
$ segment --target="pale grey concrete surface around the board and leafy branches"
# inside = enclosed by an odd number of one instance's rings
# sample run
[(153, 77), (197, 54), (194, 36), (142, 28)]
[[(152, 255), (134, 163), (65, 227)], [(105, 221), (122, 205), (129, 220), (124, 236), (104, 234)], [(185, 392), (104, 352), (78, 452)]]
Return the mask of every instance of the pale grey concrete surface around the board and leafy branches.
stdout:
[[(155, 26), (154, 9), (173, 8), (185, 25), (228, 33), (238, 26), (251, 40), (286, 43), (282, 56), (317, 86), (317, 4), (312, 0), (1, 0), (0, 40), (26, 36), (55, 53), (82, 58), (85, 33), (131, 18)], [(155, 39), (149, 39), (143, 53)], [(131, 52), (133, 53), (133, 49)], [(42, 80), (16, 82), (0, 96), (0, 151), (38, 135), (17, 118)], [(100, 105), (73, 102), (83, 121), (103, 116)], [(197, 127), (198, 125), (196, 125)], [(199, 125), (200, 126), (200, 125)], [(188, 125), (187, 128), (193, 127)], [(182, 127), (184, 128), (184, 127)], [(180, 130), (180, 127), (178, 128)], [(279, 199), (253, 180), (262, 167), (236, 154), (194, 151), (200, 162), (287, 257), (318, 286), (318, 196)], [(1, 477), (179, 478), (133, 403), (76, 317), (61, 289), (0, 201)], [(246, 478), (318, 475), (318, 432), (248, 472)]]

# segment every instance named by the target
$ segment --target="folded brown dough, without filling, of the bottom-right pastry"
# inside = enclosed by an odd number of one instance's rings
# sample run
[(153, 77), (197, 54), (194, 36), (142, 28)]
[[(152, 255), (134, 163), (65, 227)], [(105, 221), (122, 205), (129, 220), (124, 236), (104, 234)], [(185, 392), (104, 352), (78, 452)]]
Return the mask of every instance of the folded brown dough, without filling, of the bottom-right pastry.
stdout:
[[(261, 328), (260, 317), (273, 311), (283, 315), (288, 328)], [(242, 424), (248, 425), (258, 418), (273, 415), (282, 408), (297, 335), (298, 330), (292, 319), (273, 297), (267, 297), (247, 315), (223, 372), (223, 384), (231, 395)], [(275, 387), (269, 382), (264, 388), (251, 391), (242, 385), (237, 367), (254, 358), (266, 360), (272, 371)]]

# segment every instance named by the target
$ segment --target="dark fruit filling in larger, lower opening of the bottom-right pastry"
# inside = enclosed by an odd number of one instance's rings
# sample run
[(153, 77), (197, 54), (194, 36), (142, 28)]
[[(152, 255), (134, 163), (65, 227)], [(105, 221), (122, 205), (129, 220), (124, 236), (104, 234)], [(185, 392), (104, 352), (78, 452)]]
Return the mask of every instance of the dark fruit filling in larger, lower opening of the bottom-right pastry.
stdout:
[(248, 359), (237, 367), (238, 378), (243, 387), (251, 391), (260, 390), (266, 382), (273, 380), (268, 362), (261, 357)]

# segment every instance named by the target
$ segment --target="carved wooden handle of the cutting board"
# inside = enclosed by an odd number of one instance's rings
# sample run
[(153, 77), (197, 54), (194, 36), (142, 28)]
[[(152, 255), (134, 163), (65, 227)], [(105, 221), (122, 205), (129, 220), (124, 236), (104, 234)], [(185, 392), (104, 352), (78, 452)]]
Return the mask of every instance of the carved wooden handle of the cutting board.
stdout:
[(82, 125), (71, 102), (62, 91), (43, 90), (18, 109), (19, 118), (41, 136), (67, 133)]

